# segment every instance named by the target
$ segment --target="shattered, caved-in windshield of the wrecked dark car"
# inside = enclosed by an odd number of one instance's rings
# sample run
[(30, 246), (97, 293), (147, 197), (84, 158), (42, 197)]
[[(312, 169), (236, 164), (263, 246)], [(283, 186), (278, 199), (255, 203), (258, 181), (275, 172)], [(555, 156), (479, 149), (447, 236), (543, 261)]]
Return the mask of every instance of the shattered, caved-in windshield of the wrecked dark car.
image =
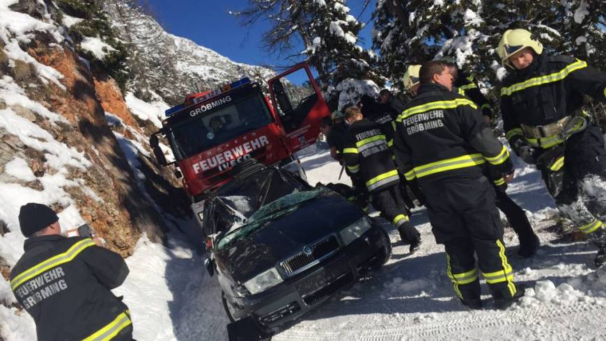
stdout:
[(320, 196), (320, 189), (309, 189), (283, 176), (274, 168), (265, 168), (252, 177), (235, 182), (220, 191), (216, 202), (226, 221), (219, 248), (261, 227), (268, 221), (293, 212), (298, 205)]

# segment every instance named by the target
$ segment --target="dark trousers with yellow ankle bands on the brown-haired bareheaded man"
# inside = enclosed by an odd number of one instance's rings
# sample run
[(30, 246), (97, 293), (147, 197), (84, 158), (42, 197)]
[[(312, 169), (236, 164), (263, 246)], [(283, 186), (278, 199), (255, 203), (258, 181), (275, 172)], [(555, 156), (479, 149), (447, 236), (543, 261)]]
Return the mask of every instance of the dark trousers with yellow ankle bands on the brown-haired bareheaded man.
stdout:
[[(429, 221), (446, 249), (446, 273), (462, 301), (480, 299), (477, 265), (495, 299), (510, 299), (517, 288), (505, 255), (503, 226), (488, 179), (456, 177), (421, 183)], [(474, 256), (476, 255), (476, 257)]]

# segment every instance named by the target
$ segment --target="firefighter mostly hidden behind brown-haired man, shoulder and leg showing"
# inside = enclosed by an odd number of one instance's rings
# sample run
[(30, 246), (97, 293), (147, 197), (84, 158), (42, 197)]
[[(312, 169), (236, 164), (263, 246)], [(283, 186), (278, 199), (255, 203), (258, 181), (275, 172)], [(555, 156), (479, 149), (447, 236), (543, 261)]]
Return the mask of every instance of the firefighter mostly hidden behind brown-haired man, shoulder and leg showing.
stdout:
[[(444, 63), (448, 65), (450, 73), (455, 79), (453, 91), (460, 95), (467, 96), (469, 100), (474, 101), (481, 109), (482, 116), (486, 123), (490, 124), (492, 122), (490, 102), (488, 102), (488, 99), (480, 91), (474, 77), (460, 71), (456, 61), (452, 57), (442, 57), (439, 60), (444, 61)], [(524, 209), (507, 195), (507, 184), (500, 174), (489, 174), (488, 177), (492, 180), (492, 186), (495, 187), (495, 193), (497, 193), (497, 207), (505, 214), (511, 228), (515, 234), (518, 235), (518, 239), (520, 240), (518, 255), (520, 257), (533, 256), (536, 253), (538, 246), (541, 245), (541, 241), (534, 233), (534, 230), (532, 230), (532, 225), (530, 224)]]

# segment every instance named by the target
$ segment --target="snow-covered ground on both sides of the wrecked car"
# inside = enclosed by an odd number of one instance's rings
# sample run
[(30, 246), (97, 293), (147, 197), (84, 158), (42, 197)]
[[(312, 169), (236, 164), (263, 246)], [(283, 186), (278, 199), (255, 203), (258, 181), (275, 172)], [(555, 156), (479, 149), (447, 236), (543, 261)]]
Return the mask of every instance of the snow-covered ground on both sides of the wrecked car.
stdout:
[[(301, 154), (311, 184), (339, 182), (341, 166), (326, 151), (311, 147)], [(341, 182), (349, 182), (346, 175)], [(605, 339), (606, 269), (593, 269), (594, 249), (549, 232), (554, 209), (536, 170), (518, 170), (508, 193), (532, 212), (543, 243), (529, 260), (510, 257), (515, 280), (529, 288), (520, 303), (505, 311), (490, 303), (482, 311), (463, 308), (446, 277), (446, 257), (431, 235), (426, 210), (416, 209), (412, 221), (424, 237), (419, 252), (408, 255), (385, 223), (394, 246), (389, 262), (273, 340)], [(216, 278), (207, 275), (203, 256), (184, 237), (173, 232), (169, 239), (162, 246), (142, 238), (127, 258), (130, 276), (115, 290), (132, 311), (134, 338), (226, 340), (228, 319)], [(515, 254), (518, 240), (511, 230), (505, 241)], [(484, 284), (483, 293), (488, 293)], [(0, 318), (0, 335), (7, 341), (31, 340), (29, 316), (0, 310)]]

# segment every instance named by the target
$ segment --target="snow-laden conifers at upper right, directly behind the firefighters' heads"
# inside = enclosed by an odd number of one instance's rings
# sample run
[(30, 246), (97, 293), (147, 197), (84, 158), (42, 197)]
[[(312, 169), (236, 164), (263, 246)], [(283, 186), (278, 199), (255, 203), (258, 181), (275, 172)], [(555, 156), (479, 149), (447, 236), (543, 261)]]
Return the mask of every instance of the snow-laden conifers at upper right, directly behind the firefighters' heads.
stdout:
[[(602, 68), (606, 33), (598, 0), (378, 0), (373, 43), (398, 85), (404, 65), (452, 56), (479, 81), (496, 86), (506, 74), (496, 53), (507, 29), (528, 29), (546, 51), (586, 59)], [(496, 89), (495, 89), (496, 90)]]

